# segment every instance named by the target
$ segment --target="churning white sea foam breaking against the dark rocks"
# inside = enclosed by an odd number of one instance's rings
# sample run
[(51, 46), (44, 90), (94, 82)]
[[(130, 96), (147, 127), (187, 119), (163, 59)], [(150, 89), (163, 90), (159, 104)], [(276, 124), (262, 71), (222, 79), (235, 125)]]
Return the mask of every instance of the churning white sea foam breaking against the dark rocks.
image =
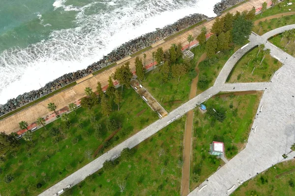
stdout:
[[(48, 40), (26, 49), (0, 54), (0, 103), (39, 89), (64, 73), (86, 68), (122, 43), (172, 24), (189, 14), (215, 16), (220, 0), (104, 0), (84, 7), (65, 6), (56, 0), (54, 9), (77, 9), (76, 25), (51, 33)], [(99, 9), (99, 3), (109, 9)], [(93, 14), (95, 13), (95, 14)], [(40, 14), (39, 14), (40, 15)], [(42, 16), (38, 16), (42, 22)]]

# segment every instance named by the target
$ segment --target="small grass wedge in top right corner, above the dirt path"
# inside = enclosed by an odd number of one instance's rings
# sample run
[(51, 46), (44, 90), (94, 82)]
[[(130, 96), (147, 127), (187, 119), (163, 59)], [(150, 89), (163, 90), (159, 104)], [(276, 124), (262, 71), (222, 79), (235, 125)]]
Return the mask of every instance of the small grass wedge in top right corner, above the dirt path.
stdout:
[[(283, 7), (281, 9), (279, 9), (279, 4), (276, 4), (273, 8), (269, 8), (267, 9), (261, 16), (261, 14), (257, 14), (254, 18), (253, 21), (256, 21), (258, 19), (261, 18), (265, 18), (267, 16), (271, 16), (271, 15), (275, 15), (275, 14), (279, 14), (279, 13), (285, 13), (285, 12), (294, 12), (295, 11), (295, 0), (290, 0), (290, 2), (292, 2), (292, 5), (287, 5), (287, 2), (282, 2), (283, 3)], [(286, 5), (286, 6), (284, 6)], [(289, 10), (291, 9), (291, 11)]]

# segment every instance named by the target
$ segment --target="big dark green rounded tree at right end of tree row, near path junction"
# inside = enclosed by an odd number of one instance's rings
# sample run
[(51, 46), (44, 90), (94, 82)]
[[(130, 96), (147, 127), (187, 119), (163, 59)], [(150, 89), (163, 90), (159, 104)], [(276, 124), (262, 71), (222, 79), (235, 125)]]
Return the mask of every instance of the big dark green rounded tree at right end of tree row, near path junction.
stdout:
[(235, 44), (243, 44), (251, 34), (252, 21), (246, 20), (244, 16), (240, 15), (234, 21), (232, 36)]

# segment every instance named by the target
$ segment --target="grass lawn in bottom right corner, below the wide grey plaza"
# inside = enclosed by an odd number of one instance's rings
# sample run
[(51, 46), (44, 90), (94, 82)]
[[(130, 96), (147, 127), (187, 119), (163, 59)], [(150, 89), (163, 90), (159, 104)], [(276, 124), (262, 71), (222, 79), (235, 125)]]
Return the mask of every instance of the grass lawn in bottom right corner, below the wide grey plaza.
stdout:
[(294, 196), (295, 161), (279, 163), (241, 185), (233, 196)]

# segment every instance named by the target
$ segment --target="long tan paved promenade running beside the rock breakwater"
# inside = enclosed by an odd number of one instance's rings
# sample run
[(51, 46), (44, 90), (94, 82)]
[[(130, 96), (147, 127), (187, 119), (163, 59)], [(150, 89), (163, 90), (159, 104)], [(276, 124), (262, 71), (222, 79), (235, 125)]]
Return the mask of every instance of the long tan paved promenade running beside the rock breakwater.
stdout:
[[(237, 6), (233, 9), (231, 9), (229, 12), (236, 13), (236, 11), (242, 12), (244, 10), (251, 10), (252, 7), (256, 7), (259, 10), (259, 7), (261, 7), (262, 3), (264, 1), (270, 2), (270, 0), (249, 0), (245, 3), (243, 3), (240, 6)], [(226, 14), (226, 13), (224, 13)], [(208, 21), (204, 23), (201, 26), (197, 26), (183, 34), (180, 34), (176, 37), (174, 37), (171, 40), (168, 41), (160, 41), (159, 43), (155, 43), (152, 49), (149, 49), (145, 53), (147, 54), (146, 58), (146, 64), (147, 66), (150, 66), (152, 64), (152, 52), (155, 51), (158, 47), (162, 47), (164, 50), (169, 49), (172, 44), (182, 44), (183, 49), (187, 48), (188, 42), (187, 37), (189, 34), (193, 35), (193, 37), (197, 37), (200, 32), (201, 28), (203, 26), (206, 26), (208, 32), (211, 29), (211, 26), (213, 25), (215, 19)], [(192, 43), (191, 45), (196, 44), (196, 42)], [(139, 55), (140, 58), (143, 59), (143, 55)], [(131, 58), (130, 56), (124, 58), (125, 60), (130, 61), (130, 68), (131, 71), (135, 71), (135, 65), (134, 60), (135, 57)], [(102, 73), (99, 73), (97, 75), (94, 75), (87, 80), (84, 80), (83, 82), (80, 82), (79, 84), (66, 89), (62, 91), (59, 94), (56, 94), (52, 96), (51, 98), (47, 98), (33, 106), (30, 106), (29, 108), (26, 108), (10, 117), (7, 117), (6, 119), (3, 119), (0, 121), (0, 130), (5, 131), (6, 133), (11, 133), (19, 130), (19, 122), (21, 121), (27, 121), (30, 124), (34, 123), (38, 117), (44, 117), (51, 115), (51, 112), (47, 109), (47, 104), (49, 102), (54, 102), (57, 105), (57, 110), (60, 110), (67, 106), (71, 102), (75, 102), (83, 97), (85, 97), (84, 89), (86, 87), (90, 87), (93, 90), (96, 89), (97, 82), (101, 82), (102, 86), (106, 86), (108, 84), (109, 76), (115, 72), (115, 70), (120, 67), (124, 63), (124, 60), (120, 60), (118, 63), (118, 66), (115, 66), (113, 68), (110, 68)]]

